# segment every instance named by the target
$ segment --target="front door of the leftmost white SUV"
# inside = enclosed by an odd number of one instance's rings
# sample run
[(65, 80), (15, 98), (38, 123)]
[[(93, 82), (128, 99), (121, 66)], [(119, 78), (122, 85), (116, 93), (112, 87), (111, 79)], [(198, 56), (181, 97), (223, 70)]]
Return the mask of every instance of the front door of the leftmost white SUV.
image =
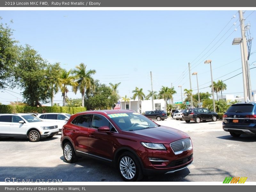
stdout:
[[(10, 126), (10, 132), (12, 134), (15, 134), (16, 136), (26, 136), (27, 132), (27, 124), (24, 123), (19, 123), (19, 121), (24, 121), (21, 117), (19, 116), (14, 116), (12, 115), (12, 123)], [(24, 121), (25, 122), (25, 121)]]

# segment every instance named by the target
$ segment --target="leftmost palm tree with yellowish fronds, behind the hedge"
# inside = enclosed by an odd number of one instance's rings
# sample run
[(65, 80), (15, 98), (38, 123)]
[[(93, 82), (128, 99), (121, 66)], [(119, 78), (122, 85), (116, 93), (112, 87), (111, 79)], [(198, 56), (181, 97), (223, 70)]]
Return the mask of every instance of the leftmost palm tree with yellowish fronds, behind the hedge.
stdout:
[(62, 69), (59, 80), (59, 87), (63, 97), (63, 107), (66, 105), (66, 98), (68, 93), (68, 85), (72, 87), (77, 86), (77, 83), (74, 81), (74, 76), (71, 76), (71, 70), (67, 71), (66, 69)]

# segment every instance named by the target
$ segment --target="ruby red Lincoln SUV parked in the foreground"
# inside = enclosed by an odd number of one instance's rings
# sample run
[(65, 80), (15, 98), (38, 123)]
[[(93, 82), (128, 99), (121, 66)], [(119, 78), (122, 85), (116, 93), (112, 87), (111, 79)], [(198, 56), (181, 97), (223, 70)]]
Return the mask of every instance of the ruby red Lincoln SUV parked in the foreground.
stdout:
[(61, 132), (67, 163), (87, 156), (117, 167), (125, 181), (179, 171), (193, 163), (189, 136), (131, 110), (85, 111), (72, 115)]

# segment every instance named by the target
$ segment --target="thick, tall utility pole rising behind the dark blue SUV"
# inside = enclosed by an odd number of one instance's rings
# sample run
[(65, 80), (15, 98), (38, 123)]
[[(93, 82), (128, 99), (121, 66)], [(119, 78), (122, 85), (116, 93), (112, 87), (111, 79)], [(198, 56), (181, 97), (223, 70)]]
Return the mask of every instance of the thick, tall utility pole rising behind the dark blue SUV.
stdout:
[(246, 67), (248, 52), (247, 52), (247, 46), (246, 46), (247, 43), (246, 43), (246, 36), (245, 36), (245, 30), (244, 30), (243, 11), (239, 10), (238, 12), (239, 12), (239, 20), (240, 20), (240, 26), (241, 26), (241, 37), (242, 37), (241, 59), (242, 59), (242, 72), (243, 72), (243, 83), (244, 83), (244, 101), (246, 101), (247, 97), (250, 99), (250, 95), (251, 95), (251, 91), (250, 91), (250, 93), (248, 93), (248, 75), (247, 75), (248, 69)]

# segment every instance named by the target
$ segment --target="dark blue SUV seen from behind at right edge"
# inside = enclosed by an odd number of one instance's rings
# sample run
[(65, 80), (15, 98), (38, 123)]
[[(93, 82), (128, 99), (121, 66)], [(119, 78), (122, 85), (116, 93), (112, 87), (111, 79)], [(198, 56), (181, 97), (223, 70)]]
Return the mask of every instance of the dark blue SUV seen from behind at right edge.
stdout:
[(256, 134), (256, 102), (231, 105), (223, 115), (222, 128), (233, 137)]

